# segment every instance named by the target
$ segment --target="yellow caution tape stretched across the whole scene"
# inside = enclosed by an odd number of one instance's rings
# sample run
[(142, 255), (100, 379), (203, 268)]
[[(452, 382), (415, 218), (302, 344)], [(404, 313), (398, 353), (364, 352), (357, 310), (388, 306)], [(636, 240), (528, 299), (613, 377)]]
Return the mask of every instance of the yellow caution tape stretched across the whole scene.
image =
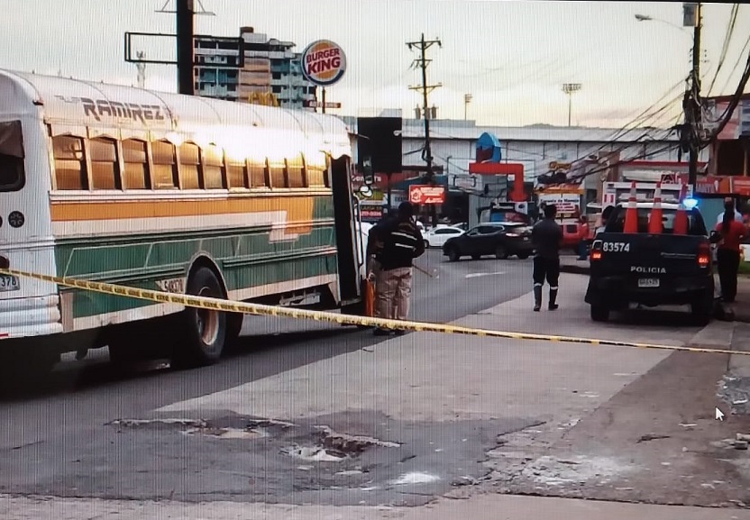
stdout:
[(617, 342), (614, 340), (596, 340), (590, 338), (575, 338), (572, 336), (553, 336), (550, 334), (533, 333), (510, 333), (507, 331), (495, 331), (491, 329), (477, 329), (450, 324), (430, 324), (425, 322), (389, 320), (385, 318), (373, 318), (366, 316), (342, 315), (325, 311), (311, 311), (295, 309), (282, 306), (266, 306), (246, 302), (234, 302), (222, 298), (209, 296), (191, 296), (136, 287), (126, 287), (104, 282), (92, 282), (77, 278), (64, 278), (50, 275), (42, 275), (17, 269), (0, 269), (0, 274), (16, 277), (35, 278), (63, 287), (76, 287), (96, 293), (107, 295), (126, 296), (142, 300), (150, 300), (159, 303), (178, 304), (181, 306), (195, 307), (199, 309), (211, 309), (229, 313), (242, 313), (247, 315), (267, 315), (296, 319), (308, 319), (316, 322), (329, 322), (334, 324), (360, 325), (367, 327), (381, 327), (384, 329), (415, 331), (418, 333), (448, 333), (466, 334), (485, 338), (503, 338), (508, 340), (530, 340), (535, 342), (565, 342), (589, 345), (602, 345), (610, 347), (628, 347), (636, 349), (658, 349), (662, 351), (687, 351), (705, 352), (713, 354), (738, 354), (750, 355), (750, 351), (730, 351), (727, 349), (703, 349), (700, 347), (684, 347), (674, 345), (659, 345), (654, 343)]

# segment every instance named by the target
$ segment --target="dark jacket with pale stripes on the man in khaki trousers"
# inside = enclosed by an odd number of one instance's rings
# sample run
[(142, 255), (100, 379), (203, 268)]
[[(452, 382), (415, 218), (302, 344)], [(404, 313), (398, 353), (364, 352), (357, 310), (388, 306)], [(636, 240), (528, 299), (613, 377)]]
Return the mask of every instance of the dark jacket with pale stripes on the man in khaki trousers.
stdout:
[(370, 230), (370, 240), (375, 239), (375, 260), (383, 270), (410, 268), (414, 259), (425, 252), (425, 239), (411, 220), (390, 217)]

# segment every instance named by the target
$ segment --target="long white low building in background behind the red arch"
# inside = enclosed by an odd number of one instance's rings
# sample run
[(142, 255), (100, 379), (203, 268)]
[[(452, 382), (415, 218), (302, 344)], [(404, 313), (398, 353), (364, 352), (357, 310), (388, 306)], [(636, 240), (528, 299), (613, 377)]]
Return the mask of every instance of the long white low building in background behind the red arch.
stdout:
[[(384, 115), (384, 114), (383, 114)], [(389, 116), (393, 116), (392, 111)], [(399, 114), (400, 115), (400, 114)], [(352, 132), (357, 132), (357, 118), (343, 116)], [(678, 152), (679, 136), (671, 130), (636, 128), (622, 131), (614, 128), (558, 127), (531, 125), (522, 127), (478, 126), (473, 121), (430, 121), (431, 149), (435, 177), (438, 184), (447, 190), (446, 204), (438, 208), (439, 213), (450, 220), (468, 218), (469, 196), (466, 180), (469, 178), (469, 163), (476, 159), (476, 142), (480, 135), (489, 132), (498, 137), (502, 160), (524, 165), (526, 191), (531, 192), (536, 180), (547, 175), (551, 163), (570, 165), (584, 162), (597, 175), (584, 180), (584, 195), (587, 201), (597, 200), (602, 180), (618, 180), (619, 166), (630, 160), (673, 163), (687, 161), (687, 156)], [(425, 145), (424, 121), (404, 119), (401, 131), (402, 171), (391, 175), (390, 190), (401, 196), (410, 184), (421, 182), (426, 172), (422, 151)], [(356, 144), (356, 142), (355, 142)], [(354, 148), (356, 155), (356, 146)], [(709, 151), (701, 151), (700, 161), (708, 160)], [(356, 157), (355, 157), (356, 159)], [(641, 163), (643, 167), (643, 163)], [(376, 175), (379, 172), (375, 172)], [(378, 176), (376, 189), (388, 191), (388, 177)], [(468, 222), (468, 221), (466, 221)]]

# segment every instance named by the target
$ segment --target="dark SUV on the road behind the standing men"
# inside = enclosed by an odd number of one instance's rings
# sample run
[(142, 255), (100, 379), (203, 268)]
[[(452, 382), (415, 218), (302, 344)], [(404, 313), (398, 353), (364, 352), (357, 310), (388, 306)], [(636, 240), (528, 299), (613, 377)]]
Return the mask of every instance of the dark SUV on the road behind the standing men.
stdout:
[(451, 261), (464, 256), (479, 260), (490, 254), (500, 260), (511, 255), (526, 260), (532, 252), (531, 227), (518, 223), (480, 224), (461, 236), (448, 239), (443, 246), (443, 254)]

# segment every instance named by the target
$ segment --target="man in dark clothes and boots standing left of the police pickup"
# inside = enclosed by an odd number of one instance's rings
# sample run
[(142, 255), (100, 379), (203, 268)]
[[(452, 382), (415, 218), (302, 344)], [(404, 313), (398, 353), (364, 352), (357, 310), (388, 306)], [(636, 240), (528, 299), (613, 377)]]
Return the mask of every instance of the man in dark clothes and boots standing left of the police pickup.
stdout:
[(542, 308), (542, 287), (544, 279), (550, 285), (549, 310), (557, 310), (557, 283), (560, 278), (560, 244), (563, 242), (563, 228), (554, 222), (557, 206), (545, 205), (544, 218), (535, 224), (531, 232), (534, 244), (534, 312)]

